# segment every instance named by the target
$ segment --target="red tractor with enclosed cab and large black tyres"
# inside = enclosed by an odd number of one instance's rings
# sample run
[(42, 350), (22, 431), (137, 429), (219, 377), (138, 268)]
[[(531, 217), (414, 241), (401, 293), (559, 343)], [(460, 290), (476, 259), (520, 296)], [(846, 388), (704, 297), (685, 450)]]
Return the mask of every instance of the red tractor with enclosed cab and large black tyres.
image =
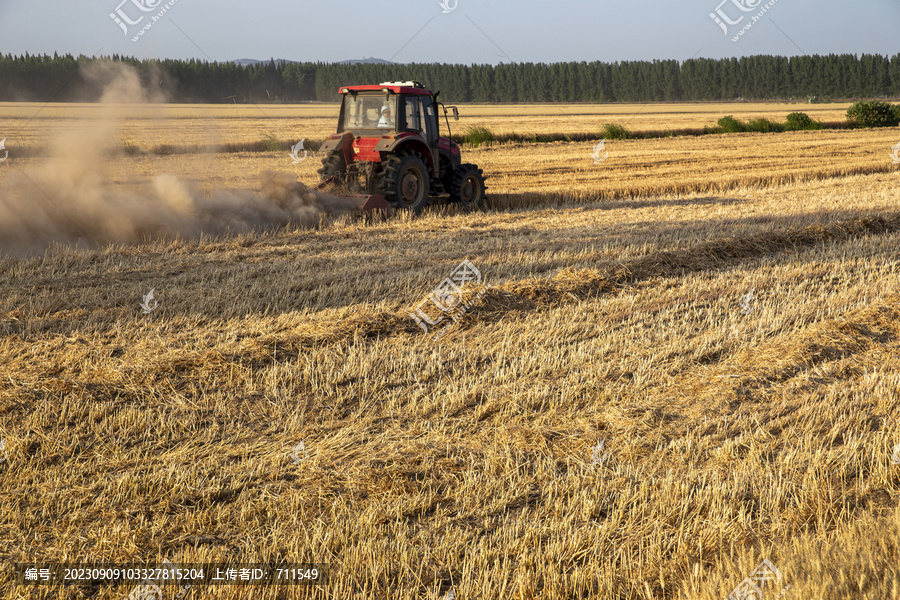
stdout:
[[(459, 146), (441, 137), (438, 109), (448, 107), (415, 81), (342, 87), (337, 133), (320, 150), (323, 183), (380, 194), (392, 207), (419, 213), (431, 196), (449, 195), (466, 209), (484, 202), (484, 174), (462, 163)], [(459, 120), (459, 111), (449, 107)]]

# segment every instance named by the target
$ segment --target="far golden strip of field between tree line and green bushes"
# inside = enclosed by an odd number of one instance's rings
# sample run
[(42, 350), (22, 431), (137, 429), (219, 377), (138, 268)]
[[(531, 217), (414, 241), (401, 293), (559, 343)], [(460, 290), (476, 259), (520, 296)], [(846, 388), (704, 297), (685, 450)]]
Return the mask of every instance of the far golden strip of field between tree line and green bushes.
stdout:
[[(337, 98), (337, 95), (335, 95)], [(843, 121), (849, 103), (668, 103), (668, 104), (468, 104), (461, 105), (458, 133), (477, 125), (497, 134), (599, 133), (606, 123), (629, 130), (666, 130), (714, 127), (719, 117), (732, 115), (747, 120), (765, 117), (784, 121), (792, 112), (805, 112), (823, 122)], [(61, 129), (86, 127), (86, 121), (102, 120), (110, 110), (125, 110), (121, 144), (144, 150), (160, 146), (194, 146), (214, 149), (228, 144), (249, 144), (275, 135), (280, 140), (301, 138), (321, 141), (333, 133), (338, 104), (302, 105), (100, 105), (0, 102), (4, 135), (34, 151)]]

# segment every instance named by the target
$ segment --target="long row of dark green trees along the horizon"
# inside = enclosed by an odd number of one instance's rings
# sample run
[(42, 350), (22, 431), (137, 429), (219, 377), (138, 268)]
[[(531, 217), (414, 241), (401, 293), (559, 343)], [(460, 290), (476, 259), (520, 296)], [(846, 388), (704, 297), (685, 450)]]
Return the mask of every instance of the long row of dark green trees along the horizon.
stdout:
[[(335, 101), (342, 85), (414, 79), (448, 102), (646, 102), (900, 97), (900, 54), (499, 65), (143, 60), (145, 86), (172, 102)], [(79, 77), (98, 59), (0, 54), (0, 101), (97, 100)]]

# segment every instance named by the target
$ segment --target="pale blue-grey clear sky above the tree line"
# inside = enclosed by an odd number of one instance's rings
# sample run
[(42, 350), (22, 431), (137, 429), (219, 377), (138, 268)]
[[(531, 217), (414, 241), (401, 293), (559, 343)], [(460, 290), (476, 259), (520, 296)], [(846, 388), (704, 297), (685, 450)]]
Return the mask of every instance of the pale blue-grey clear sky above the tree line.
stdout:
[[(466, 64), (900, 52), (898, 0), (444, 0), (446, 13), (438, 0), (122, 1), (0, 0), (0, 52)], [(143, 18), (123, 29), (117, 9)], [(710, 17), (717, 9), (741, 19), (727, 35)]]

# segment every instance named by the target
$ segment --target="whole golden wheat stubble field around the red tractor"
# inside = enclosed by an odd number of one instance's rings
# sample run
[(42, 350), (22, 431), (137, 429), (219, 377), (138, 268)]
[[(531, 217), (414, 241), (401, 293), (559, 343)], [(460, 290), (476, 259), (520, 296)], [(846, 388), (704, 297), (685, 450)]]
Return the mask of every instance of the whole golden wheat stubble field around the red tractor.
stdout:
[[(692, 106), (690, 126), (750, 114)], [(712, 600), (763, 559), (782, 597), (900, 598), (896, 130), (610, 141), (599, 164), (585, 143), (463, 147), (484, 212), (160, 240), (193, 230), (136, 203), (240, 229), (221, 214), (256, 206), (260, 171), (314, 182), (312, 153), (215, 145), (322, 137), (304, 123), (334, 107), (190, 126), (116, 107), (112, 133), (93, 108), (27, 121), (39, 108), (0, 107), (24, 140), (8, 134), (0, 190), (42, 185), (56, 203), (16, 214), (102, 247), (7, 229), (4, 600), (130, 592), (15, 586), (13, 563), (164, 559), (329, 565), (321, 587), (203, 599)], [(587, 125), (564, 108), (496, 110), (523, 130), (671, 125), (665, 106)], [(483, 293), (433, 342), (409, 311), (466, 258), (483, 275), (466, 297)]]

